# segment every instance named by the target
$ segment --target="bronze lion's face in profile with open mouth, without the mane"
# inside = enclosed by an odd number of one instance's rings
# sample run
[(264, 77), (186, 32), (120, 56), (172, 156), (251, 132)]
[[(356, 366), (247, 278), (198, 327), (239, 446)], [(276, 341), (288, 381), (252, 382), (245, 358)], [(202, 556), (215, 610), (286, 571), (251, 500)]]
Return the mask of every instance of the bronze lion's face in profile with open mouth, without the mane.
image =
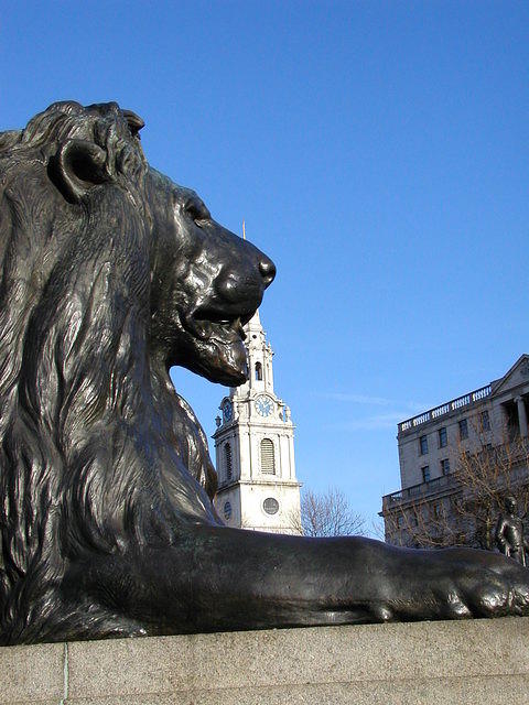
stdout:
[(197, 194), (154, 170), (147, 178), (154, 249), (151, 341), (166, 365), (226, 386), (247, 378), (242, 326), (274, 265), (213, 220)]

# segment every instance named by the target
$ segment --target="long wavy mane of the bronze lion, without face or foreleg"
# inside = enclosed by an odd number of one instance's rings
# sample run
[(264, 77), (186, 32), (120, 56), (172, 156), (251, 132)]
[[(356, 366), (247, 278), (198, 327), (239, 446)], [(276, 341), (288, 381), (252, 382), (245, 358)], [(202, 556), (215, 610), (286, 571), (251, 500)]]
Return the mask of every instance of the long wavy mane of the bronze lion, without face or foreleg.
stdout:
[[(204, 433), (151, 356), (142, 124), (68, 101), (0, 134), (3, 643), (75, 633), (84, 606), (57, 586), (87, 552), (219, 522)], [(122, 617), (85, 607), (95, 633), (119, 633)]]

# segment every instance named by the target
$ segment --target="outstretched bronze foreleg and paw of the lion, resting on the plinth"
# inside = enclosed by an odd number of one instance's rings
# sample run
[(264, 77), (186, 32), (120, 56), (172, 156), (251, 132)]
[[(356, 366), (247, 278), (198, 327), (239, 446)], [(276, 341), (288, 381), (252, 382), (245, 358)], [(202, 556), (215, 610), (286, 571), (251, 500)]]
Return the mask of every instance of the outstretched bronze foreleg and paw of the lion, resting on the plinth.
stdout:
[(69, 585), (151, 634), (529, 614), (529, 571), (511, 560), (363, 538), (193, 527), (78, 577)]

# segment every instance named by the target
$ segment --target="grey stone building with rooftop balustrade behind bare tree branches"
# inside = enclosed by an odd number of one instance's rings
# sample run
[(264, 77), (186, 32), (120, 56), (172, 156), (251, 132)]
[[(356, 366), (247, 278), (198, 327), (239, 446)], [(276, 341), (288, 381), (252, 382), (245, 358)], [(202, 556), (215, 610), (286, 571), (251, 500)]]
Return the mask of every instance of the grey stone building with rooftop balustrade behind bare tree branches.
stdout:
[(527, 486), (528, 409), (529, 356), (522, 355), (500, 379), (399, 423), (401, 489), (382, 497), (386, 540), (413, 545), (414, 528), (436, 524), (442, 544), (479, 482), (505, 491)]

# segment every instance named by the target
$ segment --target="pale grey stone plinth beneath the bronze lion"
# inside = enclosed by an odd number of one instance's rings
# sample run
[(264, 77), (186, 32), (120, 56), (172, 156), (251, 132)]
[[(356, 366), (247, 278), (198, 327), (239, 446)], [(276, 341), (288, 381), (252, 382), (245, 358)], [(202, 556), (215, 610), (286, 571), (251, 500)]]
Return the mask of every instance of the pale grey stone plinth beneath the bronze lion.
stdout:
[(527, 705), (529, 618), (0, 649), (0, 705)]

